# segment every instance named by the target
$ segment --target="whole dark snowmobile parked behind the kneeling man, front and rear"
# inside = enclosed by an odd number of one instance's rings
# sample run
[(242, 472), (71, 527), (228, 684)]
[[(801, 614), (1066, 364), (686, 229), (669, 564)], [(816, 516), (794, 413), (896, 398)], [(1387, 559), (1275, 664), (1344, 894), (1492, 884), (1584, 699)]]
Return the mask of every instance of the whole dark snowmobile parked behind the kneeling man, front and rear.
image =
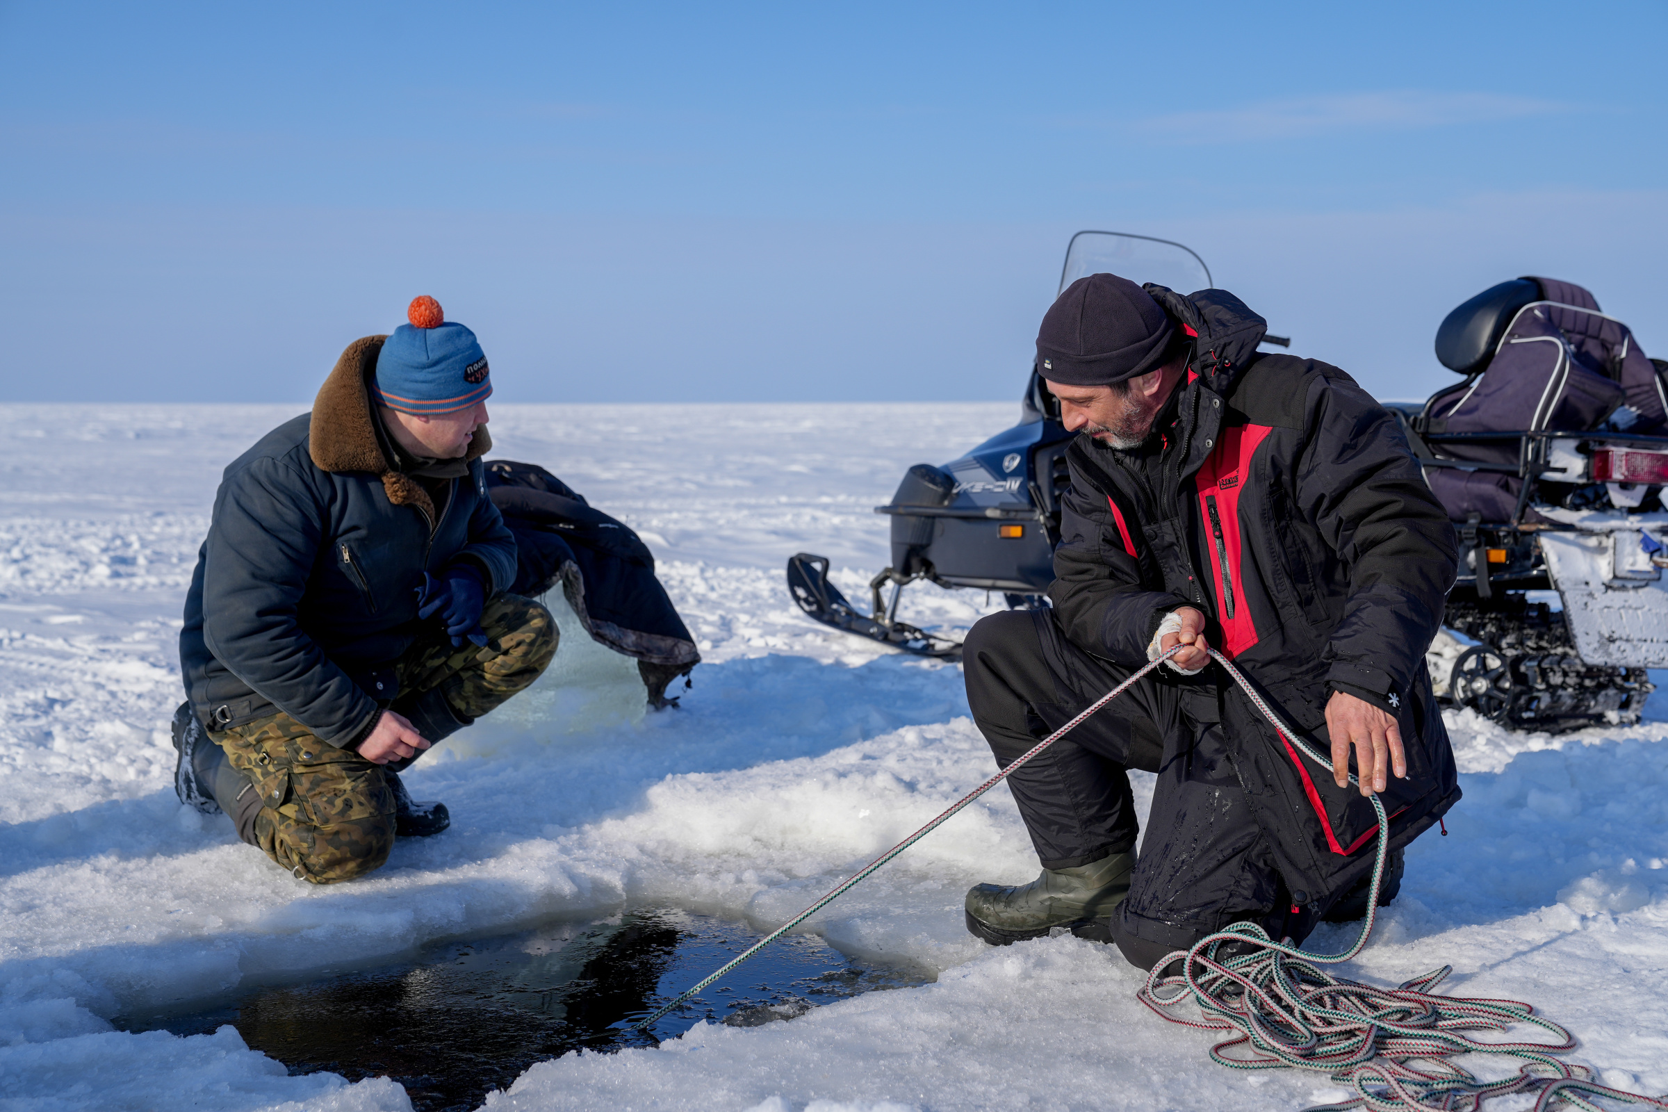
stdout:
[[(1181, 243), (1079, 232), (1059, 288), (1101, 270), (1213, 285)], [(1438, 637), (1438, 694), (1513, 729), (1638, 722), (1655, 690), (1646, 669), (1668, 667), (1668, 362), (1646, 358), (1585, 288), (1551, 278), (1503, 282), (1454, 308), (1436, 357), (1463, 380), (1388, 408), (1463, 550), (1443, 624), (1470, 644)], [(891, 517), (892, 564), (869, 584), (867, 614), (809, 553), (787, 564), (794, 600), (834, 629), (942, 659), (959, 642), (897, 619), (904, 585), (1048, 605), (1071, 437), (1032, 368), (1016, 427), (944, 467), (911, 467), (876, 507)]]

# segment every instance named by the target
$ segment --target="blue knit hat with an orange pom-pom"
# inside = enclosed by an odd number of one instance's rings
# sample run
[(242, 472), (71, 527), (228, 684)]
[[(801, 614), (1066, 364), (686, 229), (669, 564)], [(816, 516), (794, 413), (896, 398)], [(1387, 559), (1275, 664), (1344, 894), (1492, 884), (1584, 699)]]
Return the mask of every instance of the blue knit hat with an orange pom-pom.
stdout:
[(447, 323), (440, 302), (419, 297), (382, 343), (370, 390), (377, 402), (402, 413), (455, 413), (492, 393), (487, 355), (475, 333)]

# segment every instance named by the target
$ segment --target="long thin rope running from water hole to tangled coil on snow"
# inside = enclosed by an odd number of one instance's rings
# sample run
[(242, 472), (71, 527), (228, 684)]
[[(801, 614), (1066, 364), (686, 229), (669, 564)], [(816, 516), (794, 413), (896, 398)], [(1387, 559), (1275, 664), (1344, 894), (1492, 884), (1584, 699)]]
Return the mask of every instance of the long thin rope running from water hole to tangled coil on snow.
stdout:
[[(767, 934), (711, 977), (681, 992), (674, 1000), (636, 1024), (636, 1029), (647, 1032), (662, 1015), (837, 900), (1183, 649), (1184, 645), (1176, 645), (1148, 662), (944, 814), (869, 862), (849, 880)], [(1208, 649), (1208, 652), (1233, 677), (1269, 725), (1296, 745), (1304, 757), (1328, 772), (1333, 770), (1331, 760), (1314, 752), (1296, 730), (1289, 729), (1228, 657), (1214, 649)], [(1349, 784), (1359, 784), (1359, 780), (1351, 774)], [(1328, 1074), (1334, 1082), (1348, 1085), (1356, 1094), (1348, 1100), (1316, 1105), (1308, 1112), (1341, 1112), (1343, 1109), (1476, 1112), (1485, 1100), (1535, 1089), (1540, 1089), (1535, 1112), (1563, 1107), (1581, 1112), (1606, 1112), (1590, 1097), (1668, 1110), (1668, 1099), (1600, 1085), (1593, 1080), (1593, 1070), (1588, 1067), (1558, 1059), (1558, 1054), (1576, 1047), (1575, 1037), (1558, 1024), (1536, 1015), (1528, 1004), (1434, 995), (1433, 989), (1453, 972), (1451, 965), (1406, 980), (1394, 989), (1333, 977), (1321, 969), (1321, 965), (1336, 965), (1354, 959), (1366, 947), (1378, 919), (1378, 892), (1384, 879), (1384, 860), (1389, 849), (1389, 820), (1378, 795), (1369, 799), (1378, 815), (1378, 857), (1373, 862), (1366, 920), (1361, 924), (1361, 934), (1354, 945), (1341, 954), (1309, 954), (1289, 942), (1276, 942), (1258, 924), (1238, 922), (1201, 939), (1191, 949), (1176, 950), (1158, 962), (1136, 994), (1138, 999), (1173, 1024), (1201, 1030), (1236, 1032), (1234, 1037), (1211, 1047), (1211, 1059), (1221, 1065), (1236, 1070), (1316, 1070)], [(1164, 970), (1176, 962), (1181, 962), (1181, 972), (1166, 975)], [(1188, 1004), (1198, 1005), (1203, 1019), (1193, 1020), (1179, 1015), (1178, 1009)], [(1556, 1042), (1486, 1042), (1465, 1034), (1506, 1030), (1511, 1024), (1540, 1027)], [(1501, 1080), (1481, 1080), (1453, 1060), (1465, 1054), (1505, 1055), (1520, 1062), (1520, 1067), (1516, 1074)]]

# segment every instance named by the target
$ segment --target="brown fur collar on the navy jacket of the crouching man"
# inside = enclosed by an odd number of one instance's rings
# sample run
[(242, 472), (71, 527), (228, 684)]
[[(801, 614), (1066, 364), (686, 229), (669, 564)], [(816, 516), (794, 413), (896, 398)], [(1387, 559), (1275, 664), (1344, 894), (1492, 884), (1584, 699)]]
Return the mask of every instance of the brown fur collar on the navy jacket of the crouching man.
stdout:
[[(319, 387), (309, 425), (309, 453), (315, 465), (327, 472), (370, 472), (382, 480), (382, 488), (394, 505), (415, 505), (434, 522), (434, 500), (410, 475), (394, 468), (377, 443), (377, 413), (370, 408), (370, 392), (365, 383), (377, 370), (377, 352), (385, 335), (367, 335), (354, 340), (335, 360), (335, 370)], [(465, 460), (474, 460), (492, 450), (492, 437), (485, 428), (475, 430)]]

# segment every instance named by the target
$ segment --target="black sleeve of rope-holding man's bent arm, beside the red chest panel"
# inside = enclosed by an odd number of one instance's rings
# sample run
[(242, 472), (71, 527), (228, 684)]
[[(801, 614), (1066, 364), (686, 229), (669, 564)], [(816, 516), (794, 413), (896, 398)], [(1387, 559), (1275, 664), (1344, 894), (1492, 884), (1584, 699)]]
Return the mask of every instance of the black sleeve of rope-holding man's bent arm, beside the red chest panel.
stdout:
[[(1131, 523), (1126, 518), (1126, 527)], [(1143, 587), (1139, 560), (1124, 545), (1108, 495), (1089, 485), (1076, 460), (1061, 498), (1048, 594), (1066, 637), (1099, 657), (1133, 665), (1146, 664), (1148, 642), (1164, 615), (1188, 605), (1186, 599)]]

